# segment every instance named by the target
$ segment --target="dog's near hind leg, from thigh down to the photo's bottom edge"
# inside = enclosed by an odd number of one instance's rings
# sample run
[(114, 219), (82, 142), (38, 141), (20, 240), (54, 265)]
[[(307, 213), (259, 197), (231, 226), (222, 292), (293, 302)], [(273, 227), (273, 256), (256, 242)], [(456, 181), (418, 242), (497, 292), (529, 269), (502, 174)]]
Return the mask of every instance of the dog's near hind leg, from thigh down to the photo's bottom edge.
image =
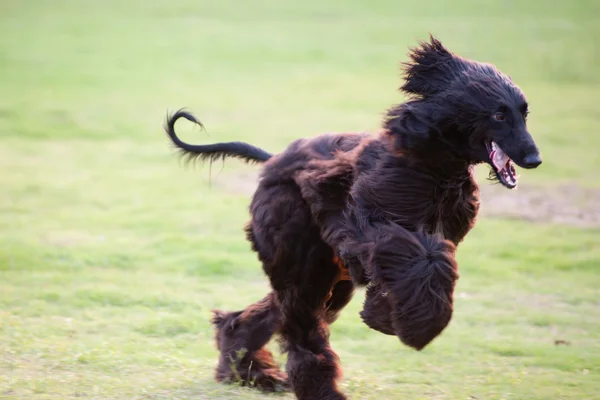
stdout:
[[(277, 294), (290, 386), (300, 400), (345, 399), (337, 389), (341, 370), (329, 345), (326, 320), (327, 301), (333, 301), (330, 293), (339, 278), (333, 249), (321, 239), (293, 183), (267, 186), (261, 182), (251, 211), (248, 237)], [(343, 298), (347, 297), (346, 288)], [(338, 307), (347, 302), (335, 298)]]

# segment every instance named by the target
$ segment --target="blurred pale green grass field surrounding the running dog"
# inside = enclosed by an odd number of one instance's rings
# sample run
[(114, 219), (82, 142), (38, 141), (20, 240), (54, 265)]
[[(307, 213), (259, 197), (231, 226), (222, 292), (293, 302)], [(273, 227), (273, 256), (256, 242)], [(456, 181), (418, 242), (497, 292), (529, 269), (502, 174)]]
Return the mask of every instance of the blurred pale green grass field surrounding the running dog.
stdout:
[(363, 325), (359, 292), (332, 326), (342, 387), (600, 399), (600, 225), (551, 222), (600, 212), (569, 197), (600, 199), (594, 0), (0, 2), (0, 398), (264, 398), (213, 382), (208, 322), (268, 290), (242, 231), (257, 168), (184, 168), (166, 111), (205, 123), (178, 125), (189, 141), (274, 152), (375, 130), (429, 32), (525, 90), (544, 164), (487, 197), (547, 193), (550, 212), (503, 217), (509, 203), (484, 198), (453, 321), (421, 353)]

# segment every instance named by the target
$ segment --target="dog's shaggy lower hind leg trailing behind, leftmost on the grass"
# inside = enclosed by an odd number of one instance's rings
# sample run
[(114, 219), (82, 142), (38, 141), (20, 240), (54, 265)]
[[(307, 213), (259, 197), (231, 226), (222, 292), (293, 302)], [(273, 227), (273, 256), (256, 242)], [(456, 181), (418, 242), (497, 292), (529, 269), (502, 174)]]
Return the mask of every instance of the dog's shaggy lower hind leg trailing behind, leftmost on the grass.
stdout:
[(274, 293), (243, 311), (213, 311), (217, 347), (220, 351), (215, 379), (255, 386), (265, 391), (287, 389), (287, 374), (279, 369), (266, 349), (280, 324)]

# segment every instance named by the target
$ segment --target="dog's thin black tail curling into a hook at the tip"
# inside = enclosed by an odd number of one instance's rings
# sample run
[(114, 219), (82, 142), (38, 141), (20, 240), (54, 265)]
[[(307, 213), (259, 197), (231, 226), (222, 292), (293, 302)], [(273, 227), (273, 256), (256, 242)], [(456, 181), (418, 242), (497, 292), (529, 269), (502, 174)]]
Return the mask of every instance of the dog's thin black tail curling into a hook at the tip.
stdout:
[(204, 127), (200, 121), (196, 119), (192, 114), (184, 110), (179, 110), (173, 115), (167, 115), (165, 122), (165, 132), (169, 135), (169, 138), (173, 144), (181, 151), (182, 155), (189, 161), (200, 160), (215, 161), (219, 158), (224, 159), (225, 157), (239, 158), (245, 162), (265, 162), (273, 155), (258, 148), (251, 144), (244, 142), (228, 142), (228, 143), (213, 143), (205, 145), (189, 144), (177, 136), (175, 133), (175, 122), (179, 118), (187, 119), (201, 128)]

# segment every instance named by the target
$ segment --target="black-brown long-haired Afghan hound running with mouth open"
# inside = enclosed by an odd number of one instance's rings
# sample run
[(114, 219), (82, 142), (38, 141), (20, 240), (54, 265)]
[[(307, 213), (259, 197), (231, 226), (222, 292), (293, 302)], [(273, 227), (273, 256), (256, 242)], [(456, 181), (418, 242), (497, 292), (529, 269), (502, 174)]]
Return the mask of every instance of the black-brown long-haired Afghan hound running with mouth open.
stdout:
[[(345, 399), (329, 325), (357, 287), (366, 287), (362, 320), (417, 350), (449, 324), (455, 252), (479, 210), (474, 166), (489, 164), (491, 178), (513, 189), (514, 164), (542, 159), (510, 77), (433, 36), (409, 57), (407, 100), (375, 133), (298, 139), (272, 155), (243, 142), (185, 143), (175, 122), (201, 123), (184, 110), (167, 117), (168, 137), (191, 160), (262, 164), (245, 232), (272, 291), (242, 311), (214, 311), (216, 380)], [(287, 373), (265, 348), (275, 333)]]

